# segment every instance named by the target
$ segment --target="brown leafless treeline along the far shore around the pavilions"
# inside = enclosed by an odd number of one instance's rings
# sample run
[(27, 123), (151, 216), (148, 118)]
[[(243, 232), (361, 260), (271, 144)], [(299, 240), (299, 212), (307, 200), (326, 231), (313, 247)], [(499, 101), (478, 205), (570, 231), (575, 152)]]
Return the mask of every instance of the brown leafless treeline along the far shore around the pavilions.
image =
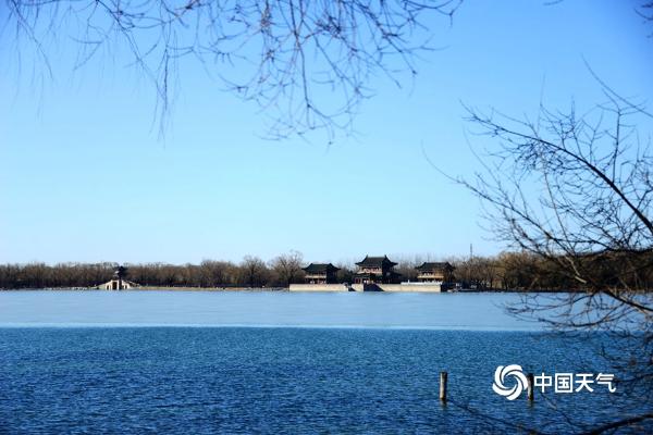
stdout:
[[(416, 266), (432, 258), (391, 257), (398, 262), (403, 281), (417, 281)], [(461, 288), (495, 290), (575, 290), (601, 286), (653, 288), (653, 253), (594, 254), (574, 259), (542, 259), (522, 252), (503, 252), (493, 257), (444, 258), (456, 269), (455, 282)], [(572, 260), (578, 268), (592, 271), (594, 283), (579, 282), (559, 268), (559, 261)], [(239, 263), (205, 260), (199, 264), (125, 264), (126, 279), (141, 286), (161, 287), (287, 287), (304, 281), (307, 262), (299, 252), (281, 254), (271, 261), (245, 257)], [(113, 277), (116, 263), (45, 263), (0, 265), (0, 288), (95, 287)], [(352, 283), (354, 262), (335, 264), (338, 281)]]

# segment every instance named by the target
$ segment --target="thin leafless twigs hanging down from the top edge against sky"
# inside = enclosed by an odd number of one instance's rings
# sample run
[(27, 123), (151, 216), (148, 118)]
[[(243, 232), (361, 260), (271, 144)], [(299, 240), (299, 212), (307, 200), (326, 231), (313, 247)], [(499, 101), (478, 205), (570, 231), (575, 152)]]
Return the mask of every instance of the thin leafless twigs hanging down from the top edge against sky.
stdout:
[(76, 67), (102, 47), (126, 47), (156, 85), (159, 115), (180, 61), (194, 58), (226, 90), (260, 105), (270, 137), (325, 128), (332, 138), (352, 130), (372, 76), (398, 84), (398, 74), (416, 74), (416, 54), (431, 49), (426, 23), (451, 21), (460, 2), (5, 0), (5, 25), (46, 62), (50, 39), (76, 41)]

